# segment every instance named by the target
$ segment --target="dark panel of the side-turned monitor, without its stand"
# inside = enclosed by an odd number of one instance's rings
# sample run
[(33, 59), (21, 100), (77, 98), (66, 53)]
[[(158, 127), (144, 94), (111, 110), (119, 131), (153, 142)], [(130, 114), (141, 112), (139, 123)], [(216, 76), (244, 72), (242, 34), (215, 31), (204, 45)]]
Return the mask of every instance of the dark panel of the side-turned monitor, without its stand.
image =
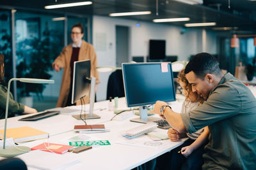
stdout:
[(74, 62), (72, 85), (72, 101), (74, 104), (79, 99), (90, 94), (91, 61), (81, 60)]

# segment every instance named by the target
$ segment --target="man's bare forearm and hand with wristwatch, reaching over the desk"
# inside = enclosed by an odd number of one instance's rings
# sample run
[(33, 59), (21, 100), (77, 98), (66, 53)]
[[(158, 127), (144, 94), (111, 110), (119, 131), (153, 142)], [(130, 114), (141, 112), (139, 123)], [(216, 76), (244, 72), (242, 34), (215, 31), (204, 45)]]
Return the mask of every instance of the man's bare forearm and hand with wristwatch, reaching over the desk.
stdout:
[(179, 133), (186, 132), (186, 128), (183, 124), (180, 113), (175, 113), (170, 108), (166, 107), (163, 112), (163, 115), (161, 115), (161, 107), (164, 105), (168, 105), (168, 104), (163, 101), (157, 101), (156, 104), (154, 105), (154, 110), (152, 111), (152, 113), (156, 113), (161, 117), (164, 116), (168, 124), (170, 124), (171, 127), (176, 131), (178, 131)]

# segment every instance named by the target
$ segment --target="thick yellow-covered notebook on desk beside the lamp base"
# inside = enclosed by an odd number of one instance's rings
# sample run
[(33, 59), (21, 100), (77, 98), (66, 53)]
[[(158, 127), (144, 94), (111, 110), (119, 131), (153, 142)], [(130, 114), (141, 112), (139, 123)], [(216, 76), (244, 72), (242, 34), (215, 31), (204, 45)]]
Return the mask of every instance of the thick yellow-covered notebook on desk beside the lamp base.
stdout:
[[(4, 130), (0, 130), (0, 138), (3, 139)], [(13, 138), (15, 143), (49, 138), (49, 134), (33, 127), (15, 127), (6, 130), (6, 138)]]

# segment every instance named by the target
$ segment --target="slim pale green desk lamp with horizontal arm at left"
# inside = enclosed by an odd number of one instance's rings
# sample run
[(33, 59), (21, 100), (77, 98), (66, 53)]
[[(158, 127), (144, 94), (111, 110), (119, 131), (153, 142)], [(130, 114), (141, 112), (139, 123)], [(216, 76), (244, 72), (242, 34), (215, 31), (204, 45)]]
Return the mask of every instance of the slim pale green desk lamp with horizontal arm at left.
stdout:
[(44, 79), (36, 79), (36, 78), (12, 78), (8, 82), (6, 109), (5, 109), (5, 122), (4, 122), (4, 141), (3, 141), (3, 149), (0, 149), (1, 157), (15, 157), (17, 155), (30, 151), (30, 148), (27, 146), (8, 146), (5, 148), (8, 105), (9, 105), (9, 98), (10, 98), (10, 85), (13, 80), (21, 81), (24, 83), (54, 83), (54, 80), (44, 80)]

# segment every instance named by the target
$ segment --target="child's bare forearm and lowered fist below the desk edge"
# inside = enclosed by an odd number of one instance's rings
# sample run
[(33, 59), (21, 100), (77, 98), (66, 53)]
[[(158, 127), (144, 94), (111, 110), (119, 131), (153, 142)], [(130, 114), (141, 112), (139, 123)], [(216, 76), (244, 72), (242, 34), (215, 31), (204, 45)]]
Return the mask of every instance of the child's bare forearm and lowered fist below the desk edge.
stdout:
[(204, 127), (204, 132), (202, 132), (202, 134), (200, 134), (200, 136), (198, 136), (198, 138), (191, 145), (181, 148), (181, 154), (184, 155), (184, 157), (188, 157), (194, 150), (207, 141), (208, 136), (209, 128), (206, 126)]

